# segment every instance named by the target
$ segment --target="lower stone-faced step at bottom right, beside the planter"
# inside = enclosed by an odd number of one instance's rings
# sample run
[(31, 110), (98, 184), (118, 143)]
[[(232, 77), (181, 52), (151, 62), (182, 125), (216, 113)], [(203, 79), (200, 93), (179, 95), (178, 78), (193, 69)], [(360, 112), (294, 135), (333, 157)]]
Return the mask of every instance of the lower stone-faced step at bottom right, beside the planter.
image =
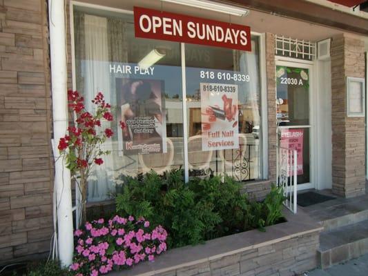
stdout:
[(329, 268), (368, 253), (368, 219), (320, 234), (318, 264)]

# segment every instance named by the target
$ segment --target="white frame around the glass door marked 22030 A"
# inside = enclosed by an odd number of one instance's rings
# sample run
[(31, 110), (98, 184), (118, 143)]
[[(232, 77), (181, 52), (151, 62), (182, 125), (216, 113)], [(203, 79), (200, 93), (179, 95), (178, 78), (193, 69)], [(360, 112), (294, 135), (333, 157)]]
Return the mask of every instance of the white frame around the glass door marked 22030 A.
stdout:
[[(309, 70), (309, 125), (295, 126), (298, 128), (309, 128), (309, 183), (298, 184), (298, 190), (306, 190), (316, 188), (316, 83), (315, 72), (316, 66), (313, 61), (304, 61), (300, 59), (293, 59), (288, 57), (275, 57), (275, 66), (288, 66), (294, 68), (304, 68)], [(275, 68), (276, 74), (276, 68)], [(276, 76), (275, 76), (276, 77)], [(277, 97), (277, 87), (276, 87)], [(276, 100), (276, 99), (275, 99)], [(280, 127), (279, 127), (280, 128)], [(282, 128), (282, 127), (281, 127)], [(292, 126), (294, 128), (294, 126)], [(275, 135), (277, 134), (278, 129)]]

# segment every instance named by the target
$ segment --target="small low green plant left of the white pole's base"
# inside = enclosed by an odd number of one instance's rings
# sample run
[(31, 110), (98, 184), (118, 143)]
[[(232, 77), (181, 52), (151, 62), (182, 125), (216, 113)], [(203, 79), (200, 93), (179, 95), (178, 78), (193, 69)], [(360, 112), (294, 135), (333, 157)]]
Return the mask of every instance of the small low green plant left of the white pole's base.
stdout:
[(28, 266), (28, 276), (72, 276), (66, 268), (60, 268), (57, 261), (41, 262)]

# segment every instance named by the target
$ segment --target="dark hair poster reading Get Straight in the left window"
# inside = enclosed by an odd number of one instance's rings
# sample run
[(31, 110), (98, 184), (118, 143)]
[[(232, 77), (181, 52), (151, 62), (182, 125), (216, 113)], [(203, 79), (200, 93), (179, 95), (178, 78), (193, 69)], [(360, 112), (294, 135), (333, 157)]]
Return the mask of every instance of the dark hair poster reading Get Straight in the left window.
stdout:
[(124, 155), (166, 153), (164, 81), (118, 78)]

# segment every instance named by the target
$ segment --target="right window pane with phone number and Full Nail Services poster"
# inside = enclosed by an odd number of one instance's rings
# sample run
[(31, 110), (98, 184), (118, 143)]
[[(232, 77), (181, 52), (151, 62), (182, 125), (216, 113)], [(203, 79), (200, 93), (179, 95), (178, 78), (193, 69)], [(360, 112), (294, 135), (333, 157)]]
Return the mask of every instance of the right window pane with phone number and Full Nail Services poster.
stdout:
[(186, 44), (190, 176), (260, 179), (258, 39), (252, 52)]

